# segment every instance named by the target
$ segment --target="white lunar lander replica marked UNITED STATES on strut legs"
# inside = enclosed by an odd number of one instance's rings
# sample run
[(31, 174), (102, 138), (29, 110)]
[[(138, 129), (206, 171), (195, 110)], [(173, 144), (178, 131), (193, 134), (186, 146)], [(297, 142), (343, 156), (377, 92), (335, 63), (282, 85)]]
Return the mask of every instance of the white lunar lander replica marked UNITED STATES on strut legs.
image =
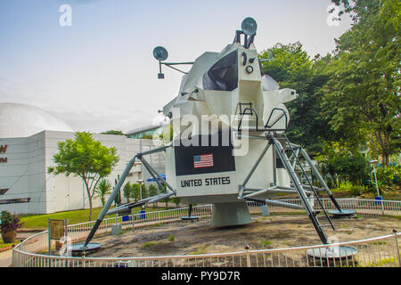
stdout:
[[(83, 248), (104, 216), (130, 213), (132, 208), (171, 196), (190, 206), (213, 204), (212, 224), (216, 226), (250, 223), (247, 201), (306, 210), (320, 239), (328, 242), (323, 227), (334, 226), (317, 192), (326, 191), (338, 212), (342, 210), (307, 152), (285, 135), (290, 116), (283, 103), (297, 94), (280, 89), (272, 77), (263, 74), (261, 62), (266, 60), (259, 60), (253, 44), (256, 29), (255, 20), (243, 20), (233, 44), (221, 53), (203, 53), (193, 62), (166, 62), (168, 53), (163, 47), (153, 50), (160, 64), (159, 78), (164, 78), (162, 66), (184, 73), (179, 93), (162, 110), (170, 118), (174, 140), (129, 161)], [(184, 72), (176, 68), (179, 64), (192, 68)], [(165, 151), (166, 180), (143, 159), (158, 151)], [(110, 209), (136, 160), (166, 191)], [(323, 188), (312, 185), (307, 169)], [(282, 192), (298, 194), (301, 206), (272, 199)], [(319, 223), (314, 199), (329, 224)]]

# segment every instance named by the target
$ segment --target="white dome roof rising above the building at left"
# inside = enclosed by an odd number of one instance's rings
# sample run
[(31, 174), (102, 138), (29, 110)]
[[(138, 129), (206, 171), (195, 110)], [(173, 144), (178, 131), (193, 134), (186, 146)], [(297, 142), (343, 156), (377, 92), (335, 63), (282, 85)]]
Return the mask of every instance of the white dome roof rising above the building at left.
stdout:
[(44, 130), (73, 132), (70, 126), (45, 110), (18, 103), (0, 103), (0, 138), (27, 137)]

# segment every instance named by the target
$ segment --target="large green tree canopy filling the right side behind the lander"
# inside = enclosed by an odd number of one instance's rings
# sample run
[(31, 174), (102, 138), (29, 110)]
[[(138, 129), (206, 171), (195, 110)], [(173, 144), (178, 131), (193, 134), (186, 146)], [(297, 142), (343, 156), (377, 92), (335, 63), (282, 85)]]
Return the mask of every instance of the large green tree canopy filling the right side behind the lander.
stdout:
[(281, 88), (297, 90), (286, 103), (291, 141), (319, 154), (332, 142), (356, 155), (368, 147), (389, 165), (400, 151), (399, 1), (332, 0), (352, 28), (336, 39), (336, 50), (309, 58), (300, 43), (260, 53), (263, 71)]

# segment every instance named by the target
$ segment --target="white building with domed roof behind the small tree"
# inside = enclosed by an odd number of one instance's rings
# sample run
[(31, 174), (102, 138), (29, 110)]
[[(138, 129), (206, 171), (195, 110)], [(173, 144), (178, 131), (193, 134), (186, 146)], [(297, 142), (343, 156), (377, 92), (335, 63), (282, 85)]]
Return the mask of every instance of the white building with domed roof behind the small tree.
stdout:
[[(88, 208), (86, 189), (80, 178), (70, 175), (49, 175), (57, 142), (74, 138), (74, 131), (61, 120), (37, 108), (11, 103), (0, 103), (0, 211), (17, 214), (50, 214)], [(107, 147), (115, 147), (119, 163), (107, 179), (115, 180), (127, 166), (129, 159), (140, 151), (151, 148), (151, 140), (137, 140), (124, 135), (93, 134), (94, 140)], [(155, 153), (145, 157), (153, 167), (164, 172), (164, 155)], [(146, 182), (150, 178), (142, 165), (136, 164), (127, 181)], [(121, 191), (121, 199), (125, 199)], [(94, 199), (94, 207), (101, 207)]]

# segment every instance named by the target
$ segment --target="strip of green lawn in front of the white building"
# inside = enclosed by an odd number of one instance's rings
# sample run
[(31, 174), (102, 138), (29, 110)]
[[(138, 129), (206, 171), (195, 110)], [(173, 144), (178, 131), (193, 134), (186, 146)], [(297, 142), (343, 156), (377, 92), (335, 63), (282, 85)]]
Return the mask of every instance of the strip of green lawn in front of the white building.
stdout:
[[(135, 208), (135, 214), (141, 209)], [(146, 212), (164, 210), (164, 208), (145, 208)], [(95, 220), (101, 213), (102, 208), (92, 209), (92, 219)], [(106, 216), (110, 217), (110, 216)], [(24, 223), (22, 229), (47, 229), (48, 219), (68, 219), (69, 224), (79, 224), (87, 222), (89, 219), (89, 209), (60, 212), (48, 215), (21, 215), (21, 222)]]

